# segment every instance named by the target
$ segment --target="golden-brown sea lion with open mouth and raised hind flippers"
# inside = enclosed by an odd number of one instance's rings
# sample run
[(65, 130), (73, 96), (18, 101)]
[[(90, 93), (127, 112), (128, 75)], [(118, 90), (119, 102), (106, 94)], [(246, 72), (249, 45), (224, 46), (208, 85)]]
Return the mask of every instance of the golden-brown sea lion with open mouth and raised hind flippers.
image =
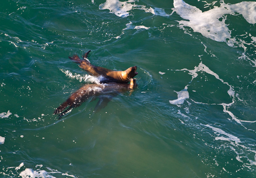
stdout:
[[(91, 51), (91, 50), (90, 50)], [(68, 57), (71, 60), (79, 64), (79, 66), (84, 69), (86, 72), (93, 76), (103, 75), (105, 80), (101, 81), (102, 83), (108, 82), (117, 82), (117, 83), (128, 83), (138, 73), (136, 72), (137, 66), (129, 67), (125, 71), (113, 71), (99, 66), (94, 66), (87, 59), (89, 52), (86, 52), (83, 56), (83, 60), (80, 59), (77, 55)]]

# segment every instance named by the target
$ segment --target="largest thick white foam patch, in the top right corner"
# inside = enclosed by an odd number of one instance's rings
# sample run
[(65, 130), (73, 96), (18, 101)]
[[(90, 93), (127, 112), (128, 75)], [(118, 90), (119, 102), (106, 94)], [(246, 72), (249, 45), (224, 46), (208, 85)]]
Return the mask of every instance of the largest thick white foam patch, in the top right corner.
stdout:
[[(233, 46), (235, 38), (231, 38), (231, 30), (225, 24), (226, 14), (242, 14), (244, 19), (254, 24), (256, 23), (256, 2), (241, 2), (237, 4), (225, 4), (223, 1), (220, 7), (214, 6), (213, 9), (202, 12), (195, 6), (185, 3), (183, 0), (174, 0), (174, 11), (183, 19), (178, 21), (181, 28), (191, 27), (195, 32), (218, 42), (227, 42)], [(227, 40), (228, 39), (228, 40)]]

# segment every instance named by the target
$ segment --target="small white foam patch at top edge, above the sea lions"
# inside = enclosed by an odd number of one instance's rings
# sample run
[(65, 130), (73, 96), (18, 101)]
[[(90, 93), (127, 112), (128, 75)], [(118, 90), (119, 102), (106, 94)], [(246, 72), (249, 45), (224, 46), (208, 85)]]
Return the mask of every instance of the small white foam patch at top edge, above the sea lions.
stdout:
[(115, 13), (118, 17), (127, 17), (129, 15), (128, 11), (137, 6), (136, 4), (131, 4), (134, 2), (134, 0), (128, 0), (125, 2), (120, 2), (118, 0), (107, 0), (105, 3), (100, 4), (99, 9), (108, 9), (110, 13)]

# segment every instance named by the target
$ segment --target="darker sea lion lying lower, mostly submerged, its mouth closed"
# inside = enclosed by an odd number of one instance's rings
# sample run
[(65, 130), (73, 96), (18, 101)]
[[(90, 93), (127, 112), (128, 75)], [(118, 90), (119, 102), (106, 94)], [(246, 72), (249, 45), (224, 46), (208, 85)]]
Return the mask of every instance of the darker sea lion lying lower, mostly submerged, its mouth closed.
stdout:
[[(72, 108), (78, 107), (81, 105), (86, 99), (92, 96), (96, 96), (103, 93), (108, 92), (119, 92), (119, 91), (126, 91), (136, 88), (137, 83), (135, 79), (131, 79), (130, 83), (115, 83), (111, 82), (108, 84), (85, 84), (83, 87), (78, 89), (75, 93), (73, 93), (67, 101), (62, 103), (53, 114), (60, 114), (59, 116), (62, 117), (64, 114), (69, 112)], [(64, 111), (67, 107), (68, 109)], [(64, 111), (64, 112), (63, 112)]]

